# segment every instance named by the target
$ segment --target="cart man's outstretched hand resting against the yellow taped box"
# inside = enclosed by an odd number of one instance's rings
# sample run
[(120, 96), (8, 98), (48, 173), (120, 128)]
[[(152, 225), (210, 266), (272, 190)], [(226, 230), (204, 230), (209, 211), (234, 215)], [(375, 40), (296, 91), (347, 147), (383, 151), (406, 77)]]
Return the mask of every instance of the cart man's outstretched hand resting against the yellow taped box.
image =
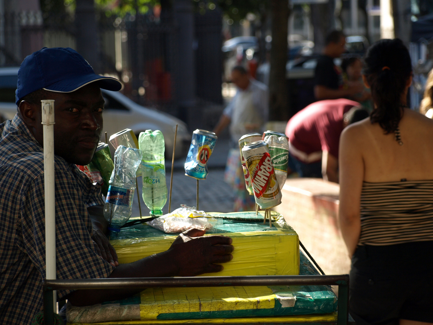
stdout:
[(203, 273), (220, 272), (233, 259), (232, 239), (226, 236), (205, 236), (205, 231), (190, 229), (174, 240), (167, 253), (173, 256), (177, 266), (176, 275), (196, 276)]

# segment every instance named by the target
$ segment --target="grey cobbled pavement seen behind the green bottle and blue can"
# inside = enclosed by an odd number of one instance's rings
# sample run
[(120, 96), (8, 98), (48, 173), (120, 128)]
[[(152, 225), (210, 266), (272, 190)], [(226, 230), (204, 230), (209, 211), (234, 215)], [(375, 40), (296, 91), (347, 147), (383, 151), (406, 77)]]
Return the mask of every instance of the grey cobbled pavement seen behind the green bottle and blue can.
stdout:
[[(170, 169), (166, 168), (166, 181), (168, 193), (170, 193)], [(138, 179), (141, 200), (142, 215), (149, 215), (149, 209), (145, 206), (142, 194), (141, 177)], [(177, 209), (181, 204), (189, 206), (196, 205), (197, 181), (185, 176), (183, 170), (173, 172), (173, 190), (171, 198), (171, 211)], [(224, 182), (224, 169), (210, 169), (207, 178), (199, 184), (199, 208), (206, 212), (231, 212), (233, 211), (233, 189)], [(168, 213), (168, 200), (163, 208)], [(138, 201), (134, 195), (132, 203), (132, 216), (139, 216)]]

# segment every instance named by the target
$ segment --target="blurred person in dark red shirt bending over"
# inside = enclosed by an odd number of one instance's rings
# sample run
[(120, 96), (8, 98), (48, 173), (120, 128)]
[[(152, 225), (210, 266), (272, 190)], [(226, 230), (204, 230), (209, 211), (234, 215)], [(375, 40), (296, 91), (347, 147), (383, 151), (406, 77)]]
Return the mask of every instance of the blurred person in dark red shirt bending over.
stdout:
[(289, 167), (301, 177), (338, 183), (340, 134), (349, 124), (368, 117), (360, 106), (341, 98), (317, 101), (297, 112), (286, 127)]

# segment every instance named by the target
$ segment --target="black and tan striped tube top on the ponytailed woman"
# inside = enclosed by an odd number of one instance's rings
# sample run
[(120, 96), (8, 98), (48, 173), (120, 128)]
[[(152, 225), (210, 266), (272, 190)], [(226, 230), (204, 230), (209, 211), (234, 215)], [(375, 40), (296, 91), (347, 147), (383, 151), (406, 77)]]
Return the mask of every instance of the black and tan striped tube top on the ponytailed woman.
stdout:
[(359, 245), (433, 240), (433, 180), (362, 184)]

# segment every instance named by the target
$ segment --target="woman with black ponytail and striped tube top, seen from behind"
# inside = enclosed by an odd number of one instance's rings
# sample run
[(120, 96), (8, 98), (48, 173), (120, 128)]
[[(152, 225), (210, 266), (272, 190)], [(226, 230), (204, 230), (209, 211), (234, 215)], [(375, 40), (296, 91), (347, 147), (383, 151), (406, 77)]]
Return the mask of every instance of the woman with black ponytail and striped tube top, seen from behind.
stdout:
[(433, 323), (433, 121), (407, 107), (412, 67), (401, 40), (371, 46), (362, 73), (374, 110), (339, 147), (349, 312), (357, 325)]

